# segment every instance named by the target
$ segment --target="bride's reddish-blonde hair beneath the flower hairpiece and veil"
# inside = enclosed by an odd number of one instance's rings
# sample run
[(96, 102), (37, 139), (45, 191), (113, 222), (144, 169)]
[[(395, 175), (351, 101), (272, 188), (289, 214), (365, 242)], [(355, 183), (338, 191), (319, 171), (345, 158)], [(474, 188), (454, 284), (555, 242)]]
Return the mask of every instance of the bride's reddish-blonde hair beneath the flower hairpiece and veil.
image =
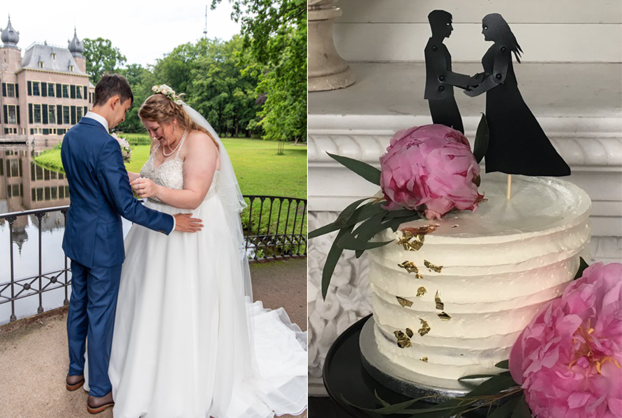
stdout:
[(212, 139), (212, 142), (214, 142), (214, 145), (216, 145), (216, 148), (219, 148), (212, 134), (207, 132), (205, 127), (195, 123), (195, 121), (186, 114), (181, 104), (173, 102), (170, 98), (161, 93), (150, 95), (140, 106), (138, 116), (144, 121), (164, 123), (166, 125), (172, 123), (173, 119), (177, 119), (179, 127), (184, 130), (197, 130), (207, 134), (207, 136)]

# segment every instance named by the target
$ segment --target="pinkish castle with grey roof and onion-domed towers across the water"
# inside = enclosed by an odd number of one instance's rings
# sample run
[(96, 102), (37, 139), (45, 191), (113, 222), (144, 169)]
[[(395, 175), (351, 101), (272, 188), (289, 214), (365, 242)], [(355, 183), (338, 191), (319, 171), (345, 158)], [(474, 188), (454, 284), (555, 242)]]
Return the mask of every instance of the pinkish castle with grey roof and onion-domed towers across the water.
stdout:
[(22, 57), (9, 17), (0, 40), (0, 142), (60, 141), (91, 109), (95, 91), (75, 29), (68, 47), (34, 42)]

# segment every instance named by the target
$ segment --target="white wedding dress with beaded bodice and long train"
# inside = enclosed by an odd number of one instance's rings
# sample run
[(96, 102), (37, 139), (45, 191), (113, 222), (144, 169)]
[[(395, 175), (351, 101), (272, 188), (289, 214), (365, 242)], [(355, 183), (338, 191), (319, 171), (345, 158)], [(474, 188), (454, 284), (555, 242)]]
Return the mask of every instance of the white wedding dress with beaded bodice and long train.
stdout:
[[(156, 149), (141, 176), (182, 189), (184, 162), (176, 155), (154, 167)], [(145, 203), (191, 212), (202, 231), (167, 236), (134, 224), (126, 237), (108, 371), (115, 418), (264, 418), (306, 409), (306, 332), (282, 308), (244, 296), (244, 263), (218, 177), (196, 210)]]

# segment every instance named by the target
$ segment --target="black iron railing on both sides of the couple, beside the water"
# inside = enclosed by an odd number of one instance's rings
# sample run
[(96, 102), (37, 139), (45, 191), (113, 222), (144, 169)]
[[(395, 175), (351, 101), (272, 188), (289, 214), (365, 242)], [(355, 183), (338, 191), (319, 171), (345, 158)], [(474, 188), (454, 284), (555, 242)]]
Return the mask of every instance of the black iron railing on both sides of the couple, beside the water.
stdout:
[[(242, 212), (246, 254), (250, 261), (266, 261), (306, 256), (306, 200), (275, 196), (244, 196), (248, 207)], [(71, 278), (68, 258), (64, 268), (43, 272), (42, 220), (52, 212), (61, 212), (67, 220), (69, 206), (26, 210), (0, 214), (0, 220), (8, 222), (10, 240), (10, 280), (0, 283), (0, 306), (10, 304), (10, 322), (17, 319), (15, 301), (24, 297), (38, 296), (37, 314), (43, 313), (43, 293), (64, 288), (63, 304), (69, 304)], [(34, 215), (38, 223), (38, 274), (15, 277), (14, 226), (18, 217)], [(0, 323), (3, 320), (0, 318)]]

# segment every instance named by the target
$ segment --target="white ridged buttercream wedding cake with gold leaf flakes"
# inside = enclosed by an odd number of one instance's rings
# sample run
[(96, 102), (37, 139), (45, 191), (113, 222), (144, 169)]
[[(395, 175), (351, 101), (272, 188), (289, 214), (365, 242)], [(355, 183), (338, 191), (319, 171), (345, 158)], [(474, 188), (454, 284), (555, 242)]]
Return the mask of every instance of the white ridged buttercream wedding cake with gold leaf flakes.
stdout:
[[(477, 210), (385, 229), (370, 249), (373, 335), (381, 356), (417, 376), (498, 373), (538, 309), (586, 256), (591, 201), (559, 178), (482, 175)], [(422, 382), (424, 383), (424, 382)]]

